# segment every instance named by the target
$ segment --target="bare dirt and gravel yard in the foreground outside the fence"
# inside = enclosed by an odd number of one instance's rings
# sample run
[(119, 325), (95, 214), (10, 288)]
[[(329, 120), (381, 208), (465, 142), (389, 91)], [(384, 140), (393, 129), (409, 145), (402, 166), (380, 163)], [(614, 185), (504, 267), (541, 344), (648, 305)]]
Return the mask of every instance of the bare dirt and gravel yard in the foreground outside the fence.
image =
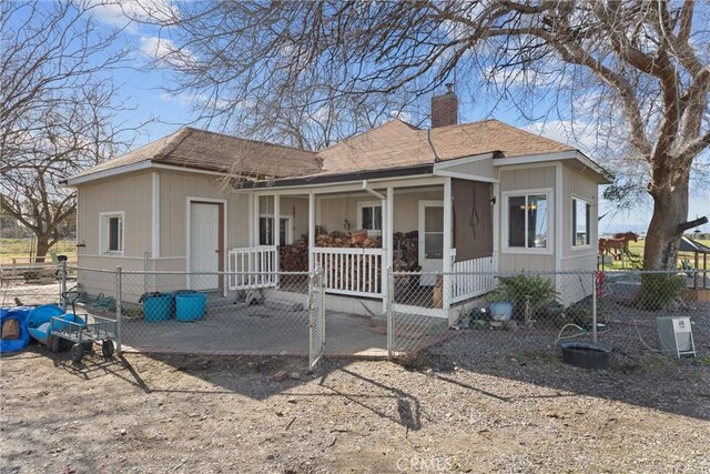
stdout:
[[(2, 473), (710, 472), (710, 359), (610, 370), (468, 335), (417, 360), (1, 361)], [(300, 380), (274, 382), (277, 371)]]

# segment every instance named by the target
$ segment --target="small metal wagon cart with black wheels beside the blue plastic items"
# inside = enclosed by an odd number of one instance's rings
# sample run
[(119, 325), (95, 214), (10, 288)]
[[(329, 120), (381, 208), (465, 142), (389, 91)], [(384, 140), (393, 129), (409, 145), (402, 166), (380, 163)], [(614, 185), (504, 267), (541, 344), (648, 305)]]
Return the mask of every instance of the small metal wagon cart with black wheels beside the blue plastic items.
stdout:
[(51, 335), (54, 337), (71, 341), (71, 360), (81, 362), (84, 354), (93, 347), (94, 342), (101, 341), (101, 353), (105, 359), (111, 359), (115, 351), (113, 341), (116, 339), (118, 324), (115, 320), (94, 316), (93, 314), (78, 315), (74, 303), (79, 297), (79, 292), (62, 293), (64, 301), (71, 303), (74, 320), (65, 316), (54, 316), (51, 320)]

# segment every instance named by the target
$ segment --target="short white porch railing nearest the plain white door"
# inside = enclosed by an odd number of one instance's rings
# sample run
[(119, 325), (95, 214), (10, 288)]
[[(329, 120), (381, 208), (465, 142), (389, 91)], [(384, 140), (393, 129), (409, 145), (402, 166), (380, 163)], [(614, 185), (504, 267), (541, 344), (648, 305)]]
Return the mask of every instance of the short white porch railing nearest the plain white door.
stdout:
[(231, 249), (227, 254), (230, 290), (276, 286), (275, 245)]

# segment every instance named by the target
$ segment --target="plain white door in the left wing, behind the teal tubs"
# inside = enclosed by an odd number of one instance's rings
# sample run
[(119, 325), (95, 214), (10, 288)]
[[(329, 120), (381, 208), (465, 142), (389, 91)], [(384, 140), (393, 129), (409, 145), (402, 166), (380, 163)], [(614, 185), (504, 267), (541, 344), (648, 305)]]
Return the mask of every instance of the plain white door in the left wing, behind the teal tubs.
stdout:
[(220, 204), (190, 203), (190, 272), (215, 273), (191, 275), (192, 290), (220, 288)]

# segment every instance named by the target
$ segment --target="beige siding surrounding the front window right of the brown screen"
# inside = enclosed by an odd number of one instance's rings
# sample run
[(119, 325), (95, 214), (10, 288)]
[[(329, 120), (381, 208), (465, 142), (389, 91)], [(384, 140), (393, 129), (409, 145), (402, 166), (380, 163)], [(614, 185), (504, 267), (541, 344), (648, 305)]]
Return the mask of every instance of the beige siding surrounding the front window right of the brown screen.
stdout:
[[(504, 168), (500, 170), (500, 192), (506, 191), (526, 191), (535, 189), (552, 189), (555, 193), (558, 192), (556, 186), (556, 165), (549, 167), (531, 167), (531, 168)], [(501, 194), (503, 196), (503, 194)], [(557, 206), (555, 205), (556, 195), (551, 196), (552, 215), (549, 218), (548, 235), (552, 239), (552, 245), (557, 249), (559, 242), (555, 239), (555, 225), (557, 222)], [(503, 206), (506, 205), (505, 200), (500, 199), (497, 211), (503, 215)], [(506, 239), (506, 225), (503, 219), (500, 219), (500, 232), (498, 249), (501, 249), (498, 256), (498, 269), (501, 272), (506, 271), (555, 271), (555, 253), (551, 255), (540, 255), (532, 253), (508, 253), (504, 249)]]

